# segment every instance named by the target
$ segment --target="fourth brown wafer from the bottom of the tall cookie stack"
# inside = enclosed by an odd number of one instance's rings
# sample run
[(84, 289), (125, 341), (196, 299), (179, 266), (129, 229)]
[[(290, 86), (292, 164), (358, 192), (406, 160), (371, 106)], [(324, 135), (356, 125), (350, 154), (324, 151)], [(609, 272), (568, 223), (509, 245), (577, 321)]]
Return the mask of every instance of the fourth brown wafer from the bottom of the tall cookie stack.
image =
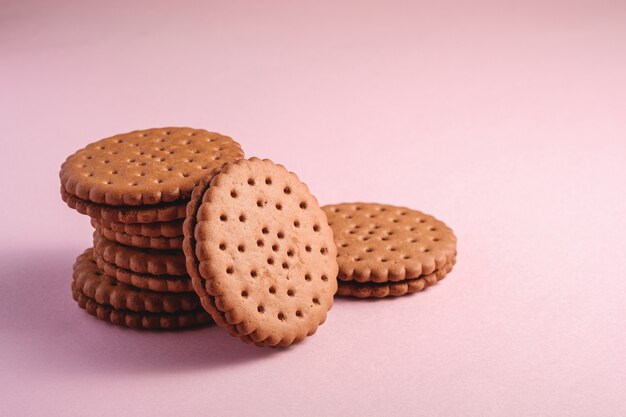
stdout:
[(93, 252), (120, 268), (140, 274), (187, 275), (185, 256), (181, 251), (139, 249), (93, 234)]

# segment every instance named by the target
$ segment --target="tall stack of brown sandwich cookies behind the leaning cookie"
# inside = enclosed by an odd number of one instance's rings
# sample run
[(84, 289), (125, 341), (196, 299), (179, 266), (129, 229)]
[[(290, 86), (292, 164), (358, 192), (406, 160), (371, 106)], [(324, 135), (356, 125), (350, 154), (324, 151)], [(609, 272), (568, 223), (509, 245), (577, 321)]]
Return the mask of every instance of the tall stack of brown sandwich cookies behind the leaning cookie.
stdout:
[(61, 196), (95, 228), (74, 265), (79, 305), (129, 327), (210, 323), (185, 268), (186, 205), (201, 178), (241, 158), (231, 138), (190, 128), (116, 135), (68, 157)]

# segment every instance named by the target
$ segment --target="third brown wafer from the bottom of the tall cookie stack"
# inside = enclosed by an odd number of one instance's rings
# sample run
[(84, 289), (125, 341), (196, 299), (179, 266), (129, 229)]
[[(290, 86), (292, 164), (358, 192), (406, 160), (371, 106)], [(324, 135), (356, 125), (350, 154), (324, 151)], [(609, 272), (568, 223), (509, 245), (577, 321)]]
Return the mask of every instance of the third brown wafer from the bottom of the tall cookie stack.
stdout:
[(133, 287), (158, 292), (193, 292), (188, 276), (139, 274), (109, 263), (100, 255), (94, 260), (105, 274)]

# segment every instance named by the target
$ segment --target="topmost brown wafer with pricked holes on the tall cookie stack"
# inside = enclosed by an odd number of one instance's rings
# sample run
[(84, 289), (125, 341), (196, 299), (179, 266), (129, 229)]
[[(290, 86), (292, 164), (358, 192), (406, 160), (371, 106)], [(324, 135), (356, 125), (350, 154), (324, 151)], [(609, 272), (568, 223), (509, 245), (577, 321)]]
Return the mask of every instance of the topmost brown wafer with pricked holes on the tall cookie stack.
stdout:
[(80, 199), (111, 206), (170, 203), (196, 183), (243, 158), (228, 136), (187, 127), (137, 130), (87, 145), (61, 166), (61, 186)]

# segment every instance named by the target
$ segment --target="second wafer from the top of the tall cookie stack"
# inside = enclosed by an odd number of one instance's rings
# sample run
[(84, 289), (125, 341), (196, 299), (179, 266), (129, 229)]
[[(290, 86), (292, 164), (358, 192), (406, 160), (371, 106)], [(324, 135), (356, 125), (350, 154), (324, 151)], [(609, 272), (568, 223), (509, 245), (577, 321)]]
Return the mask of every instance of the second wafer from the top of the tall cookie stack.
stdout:
[(122, 223), (153, 223), (167, 222), (185, 218), (187, 201), (155, 204), (153, 206), (106, 206), (82, 200), (65, 191), (61, 187), (61, 198), (68, 207), (80, 214), (86, 214), (93, 219), (105, 219)]

